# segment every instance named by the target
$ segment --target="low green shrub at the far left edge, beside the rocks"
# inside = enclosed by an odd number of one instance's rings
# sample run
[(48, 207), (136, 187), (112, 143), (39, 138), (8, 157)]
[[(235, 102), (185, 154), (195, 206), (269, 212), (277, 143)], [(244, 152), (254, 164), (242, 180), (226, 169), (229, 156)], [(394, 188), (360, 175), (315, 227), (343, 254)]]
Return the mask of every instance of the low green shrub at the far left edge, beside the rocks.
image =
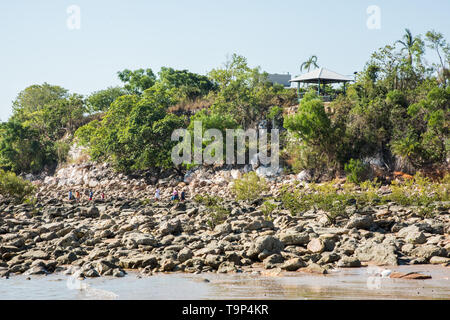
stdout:
[(31, 182), (16, 176), (14, 172), (0, 170), (0, 193), (21, 203), (31, 196), (34, 186)]

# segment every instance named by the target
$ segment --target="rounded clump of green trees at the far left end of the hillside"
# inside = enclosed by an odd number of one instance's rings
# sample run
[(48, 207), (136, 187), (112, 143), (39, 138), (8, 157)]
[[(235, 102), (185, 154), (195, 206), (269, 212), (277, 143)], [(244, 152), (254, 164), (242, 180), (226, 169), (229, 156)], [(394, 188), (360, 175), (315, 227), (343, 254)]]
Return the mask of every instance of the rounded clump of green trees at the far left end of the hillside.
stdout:
[(0, 163), (14, 172), (37, 172), (64, 160), (75, 130), (84, 124), (81, 95), (59, 86), (32, 85), (13, 102), (0, 132)]

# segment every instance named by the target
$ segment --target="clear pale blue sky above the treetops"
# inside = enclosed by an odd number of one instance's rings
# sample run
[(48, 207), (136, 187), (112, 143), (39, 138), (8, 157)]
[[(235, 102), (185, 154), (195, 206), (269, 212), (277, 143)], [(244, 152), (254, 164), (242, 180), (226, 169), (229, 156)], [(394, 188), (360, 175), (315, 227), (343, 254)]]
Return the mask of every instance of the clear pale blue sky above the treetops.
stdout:
[[(80, 30), (66, 25), (70, 5), (81, 9)], [(381, 9), (379, 30), (366, 26), (370, 5)], [(316, 54), (321, 66), (352, 74), (404, 28), (436, 29), (449, 39), (449, 13), (448, 0), (2, 1), (0, 119), (32, 84), (89, 94), (120, 84), (116, 72), (125, 68), (206, 73), (231, 53), (291, 74)]]

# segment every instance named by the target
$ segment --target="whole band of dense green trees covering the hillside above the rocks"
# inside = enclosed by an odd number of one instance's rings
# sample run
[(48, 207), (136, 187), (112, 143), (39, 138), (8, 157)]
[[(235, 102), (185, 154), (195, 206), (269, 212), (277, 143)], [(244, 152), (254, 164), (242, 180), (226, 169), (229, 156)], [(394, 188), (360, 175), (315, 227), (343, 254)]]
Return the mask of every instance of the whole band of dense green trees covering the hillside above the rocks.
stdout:
[[(427, 48), (427, 58), (434, 54), (437, 63), (426, 63)], [(281, 142), (294, 172), (310, 169), (317, 178), (346, 172), (360, 183), (370, 177), (367, 160), (373, 158), (391, 171), (445, 167), (449, 63), (450, 46), (441, 34), (413, 36), (407, 30), (371, 56), (346, 94), (324, 103), (310, 87), (290, 116), (286, 109), (297, 104), (296, 90), (270, 83), (238, 55), (207, 75), (165, 67), (157, 74), (123, 70), (123, 86), (87, 97), (32, 85), (19, 93), (13, 115), (0, 126), (0, 166), (18, 174), (53, 168), (76, 141), (93, 160), (120, 171), (166, 169), (173, 166), (170, 138), (176, 128), (193, 130), (193, 120), (201, 120), (204, 129), (224, 131), (268, 120), (269, 128), (287, 129)], [(301, 68), (314, 66), (316, 56)]]

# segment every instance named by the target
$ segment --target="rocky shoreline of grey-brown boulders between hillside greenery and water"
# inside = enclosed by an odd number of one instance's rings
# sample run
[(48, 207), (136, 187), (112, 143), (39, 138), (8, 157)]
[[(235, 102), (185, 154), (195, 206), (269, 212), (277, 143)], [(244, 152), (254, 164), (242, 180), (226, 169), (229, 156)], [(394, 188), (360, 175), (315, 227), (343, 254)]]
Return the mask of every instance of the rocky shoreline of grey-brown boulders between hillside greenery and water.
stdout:
[[(203, 170), (203, 169), (202, 169)], [(239, 170), (197, 170), (184, 178), (156, 181), (116, 175), (107, 165), (72, 165), (35, 181), (37, 203), (0, 202), (0, 276), (73, 273), (82, 277), (155, 272), (253, 272), (261, 267), (324, 274), (339, 267), (401, 264), (450, 265), (450, 213), (433, 218), (413, 208), (379, 205), (339, 217), (323, 212), (292, 216), (261, 203), (235, 201), (229, 186)], [(282, 185), (269, 181), (276, 199)], [(185, 202), (168, 200), (173, 186)], [(67, 200), (68, 190), (105, 192), (105, 200)], [(161, 201), (154, 201), (161, 188)], [(214, 194), (230, 213), (211, 226), (210, 212), (196, 194)]]

